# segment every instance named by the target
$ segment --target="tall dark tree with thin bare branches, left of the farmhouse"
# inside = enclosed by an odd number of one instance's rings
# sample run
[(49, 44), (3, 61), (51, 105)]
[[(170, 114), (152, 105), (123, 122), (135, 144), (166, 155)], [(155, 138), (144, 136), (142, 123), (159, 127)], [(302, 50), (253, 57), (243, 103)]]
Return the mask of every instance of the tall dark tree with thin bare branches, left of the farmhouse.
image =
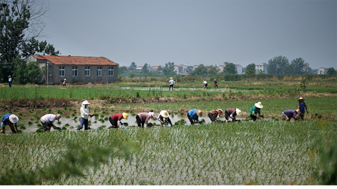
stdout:
[[(14, 73), (18, 66), (25, 66), (22, 59), (34, 54), (57, 56), (52, 44), (38, 41), (45, 37), (41, 17), (49, 10), (43, 0), (1, 0), (0, 1), (0, 80), (8, 80), (8, 75)], [(28, 65), (26, 65), (28, 66)], [(20, 70), (26, 67), (19, 68)], [(21, 72), (20, 72), (21, 73)], [(35, 75), (37, 77), (38, 74)], [(21, 79), (15, 78), (16, 81)], [(22, 80), (23, 81), (23, 80)]]

